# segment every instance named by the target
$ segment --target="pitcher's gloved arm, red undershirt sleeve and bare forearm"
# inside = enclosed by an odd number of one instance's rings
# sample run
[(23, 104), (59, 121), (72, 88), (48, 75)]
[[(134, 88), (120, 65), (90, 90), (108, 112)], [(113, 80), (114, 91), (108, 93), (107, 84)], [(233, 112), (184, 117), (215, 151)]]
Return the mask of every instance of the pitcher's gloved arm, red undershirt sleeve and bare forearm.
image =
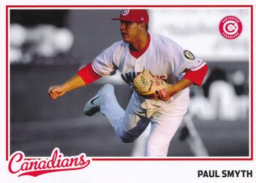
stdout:
[(203, 79), (206, 77), (207, 71), (208, 71), (207, 65), (203, 66), (197, 71), (187, 70), (186, 74), (180, 81), (176, 82), (176, 84), (174, 85), (168, 85), (167, 93), (171, 97), (191, 85), (198, 85), (198, 86), (202, 85)]

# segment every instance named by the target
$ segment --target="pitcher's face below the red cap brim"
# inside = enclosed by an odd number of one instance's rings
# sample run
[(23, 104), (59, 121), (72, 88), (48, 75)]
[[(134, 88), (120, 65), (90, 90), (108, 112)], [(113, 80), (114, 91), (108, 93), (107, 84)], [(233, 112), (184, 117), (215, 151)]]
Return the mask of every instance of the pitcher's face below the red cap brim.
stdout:
[(140, 23), (121, 21), (120, 31), (124, 42), (136, 42), (140, 36)]

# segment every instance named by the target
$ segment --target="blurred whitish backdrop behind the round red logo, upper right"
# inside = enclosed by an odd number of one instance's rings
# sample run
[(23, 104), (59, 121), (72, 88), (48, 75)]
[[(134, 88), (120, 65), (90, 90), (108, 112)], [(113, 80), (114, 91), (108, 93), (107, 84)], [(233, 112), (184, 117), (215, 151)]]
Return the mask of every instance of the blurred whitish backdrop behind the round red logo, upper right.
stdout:
[[(239, 17), (243, 31), (236, 39), (223, 39), (223, 17)], [(159, 9), (151, 11), (151, 31), (172, 38), (207, 61), (248, 61), (249, 10), (225, 8)]]

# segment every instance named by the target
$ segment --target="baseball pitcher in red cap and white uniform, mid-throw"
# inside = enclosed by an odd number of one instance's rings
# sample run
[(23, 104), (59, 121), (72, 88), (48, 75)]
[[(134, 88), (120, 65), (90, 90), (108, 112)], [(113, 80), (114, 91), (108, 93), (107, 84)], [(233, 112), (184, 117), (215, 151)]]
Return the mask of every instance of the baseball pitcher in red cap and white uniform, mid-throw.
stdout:
[(84, 108), (88, 116), (102, 112), (121, 141), (135, 141), (151, 123), (146, 156), (165, 157), (189, 105), (189, 86), (201, 85), (207, 65), (173, 40), (148, 32), (146, 9), (123, 9), (122, 39), (62, 85), (49, 87), (51, 99), (121, 72), (134, 92), (127, 109), (119, 106), (113, 85), (104, 85)]

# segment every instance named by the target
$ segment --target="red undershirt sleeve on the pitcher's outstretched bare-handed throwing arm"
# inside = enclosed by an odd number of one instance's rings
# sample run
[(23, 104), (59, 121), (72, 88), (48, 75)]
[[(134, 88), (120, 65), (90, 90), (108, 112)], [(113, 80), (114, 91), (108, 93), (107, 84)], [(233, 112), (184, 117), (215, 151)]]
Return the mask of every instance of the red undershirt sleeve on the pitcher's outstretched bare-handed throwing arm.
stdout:
[(91, 82), (94, 82), (101, 77), (99, 76), (99, 74), (94, 72), (91, 63), (88, 63), (86, 66), (83, 67), (83, 69), (80, 69), (80, 71), (78, 71), (78, 76), (83, 79), (86, 85), (89, 85)]

